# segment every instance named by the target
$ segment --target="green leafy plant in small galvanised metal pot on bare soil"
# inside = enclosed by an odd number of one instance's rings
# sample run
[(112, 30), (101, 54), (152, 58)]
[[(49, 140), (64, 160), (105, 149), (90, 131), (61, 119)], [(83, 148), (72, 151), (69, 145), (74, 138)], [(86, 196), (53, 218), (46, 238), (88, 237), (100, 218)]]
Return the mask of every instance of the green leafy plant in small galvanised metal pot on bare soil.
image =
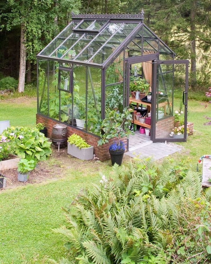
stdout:
[(29, 172), (35, 168), (34, 160), (21, 159), (17, 167), (17, 180), (26, 182), (29, 177)]

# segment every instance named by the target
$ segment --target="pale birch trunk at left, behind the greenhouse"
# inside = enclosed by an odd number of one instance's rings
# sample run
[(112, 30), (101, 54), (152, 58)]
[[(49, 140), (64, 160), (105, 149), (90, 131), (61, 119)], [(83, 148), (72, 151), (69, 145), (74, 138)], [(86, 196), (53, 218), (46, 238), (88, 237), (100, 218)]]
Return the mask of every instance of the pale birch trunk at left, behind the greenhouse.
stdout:
[(19, 67), (19, 82), (18, 92), (24, 92), (25, 75), (26, 75), (26, 46), (25, 46), (25, 30), (24, 24), (21, 24), (21, 45), (20, 45), (20, 67)]

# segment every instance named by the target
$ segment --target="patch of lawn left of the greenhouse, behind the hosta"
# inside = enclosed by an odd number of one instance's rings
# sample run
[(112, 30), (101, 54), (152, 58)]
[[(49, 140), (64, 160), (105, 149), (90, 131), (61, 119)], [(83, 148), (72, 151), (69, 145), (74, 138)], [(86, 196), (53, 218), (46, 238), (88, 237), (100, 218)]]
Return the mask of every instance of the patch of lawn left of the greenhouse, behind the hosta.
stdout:
[(36, 123), (36, 98), (1, 100), (0, 120), (9, 120), (11, 126), (34, 126)]

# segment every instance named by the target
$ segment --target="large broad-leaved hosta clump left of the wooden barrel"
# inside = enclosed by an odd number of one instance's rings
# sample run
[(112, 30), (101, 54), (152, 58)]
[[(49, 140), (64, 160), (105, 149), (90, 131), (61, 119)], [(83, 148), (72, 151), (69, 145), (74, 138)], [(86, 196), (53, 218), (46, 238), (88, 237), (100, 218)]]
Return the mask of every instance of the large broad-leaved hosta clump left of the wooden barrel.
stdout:
[(9, 127), (3, 131), (2, 136), (14, 142), (15, 153), (21, 158), (25, 158), (28, 154), (38, 160), (46, 160), (46, 157), (52, 153), (51, 142), (38, 129)]

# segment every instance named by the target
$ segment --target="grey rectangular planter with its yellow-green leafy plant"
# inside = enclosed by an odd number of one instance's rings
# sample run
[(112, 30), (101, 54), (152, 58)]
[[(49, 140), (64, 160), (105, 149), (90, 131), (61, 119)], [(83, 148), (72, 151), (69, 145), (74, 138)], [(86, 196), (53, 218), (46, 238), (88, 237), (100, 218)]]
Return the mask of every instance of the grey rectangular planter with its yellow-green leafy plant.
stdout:
[(94, 148), (79, 135), (72, 134), (67, 140), (67, 153), (80, 159), (92, 160)]

